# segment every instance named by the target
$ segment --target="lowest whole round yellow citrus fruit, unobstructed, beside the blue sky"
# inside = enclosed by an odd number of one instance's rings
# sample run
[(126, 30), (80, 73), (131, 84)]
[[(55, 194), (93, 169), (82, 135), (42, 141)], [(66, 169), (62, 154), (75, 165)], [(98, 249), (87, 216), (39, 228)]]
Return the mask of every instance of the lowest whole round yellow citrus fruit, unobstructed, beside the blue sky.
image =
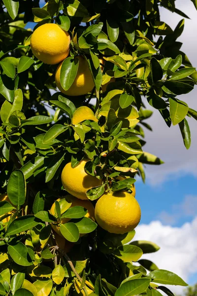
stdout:
[(95, 208), (100, 227), (110, 233), (124, 234), (133, 230), (141, 218), (138, 202), (126, 191), (103, 194)]

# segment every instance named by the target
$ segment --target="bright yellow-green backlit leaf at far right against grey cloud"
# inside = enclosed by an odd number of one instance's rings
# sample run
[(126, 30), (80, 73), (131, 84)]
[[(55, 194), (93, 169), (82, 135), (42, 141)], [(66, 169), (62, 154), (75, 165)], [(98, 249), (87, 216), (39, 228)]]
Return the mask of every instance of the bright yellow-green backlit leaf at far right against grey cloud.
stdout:
[(187, 115), (188, 110), (189, 107), (185, 102), (175, 98), (169, 98), (169, 112), (173, 125), (181, 122)]

